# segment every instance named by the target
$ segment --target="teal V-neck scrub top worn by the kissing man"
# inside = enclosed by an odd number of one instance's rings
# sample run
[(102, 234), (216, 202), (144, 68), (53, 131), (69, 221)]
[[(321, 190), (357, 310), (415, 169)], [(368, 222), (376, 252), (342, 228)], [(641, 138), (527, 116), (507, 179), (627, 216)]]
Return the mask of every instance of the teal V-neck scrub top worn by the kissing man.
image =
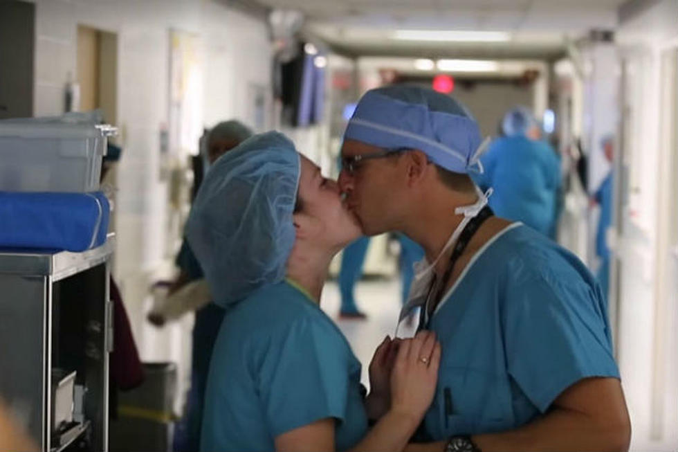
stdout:
[(577, 257), (522, 224), (475, 254), (428, 329), (443, 350), (428, 440), (511, 430), (580, 379), (619, 378), (600, 287)]

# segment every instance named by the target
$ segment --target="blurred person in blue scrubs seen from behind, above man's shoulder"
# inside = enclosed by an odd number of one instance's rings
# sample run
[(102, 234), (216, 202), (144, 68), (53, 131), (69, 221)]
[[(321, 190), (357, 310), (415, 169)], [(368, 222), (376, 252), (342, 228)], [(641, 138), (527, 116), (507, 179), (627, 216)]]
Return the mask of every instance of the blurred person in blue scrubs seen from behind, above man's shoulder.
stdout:
[(490, 207), (496, 215), (555, 238), (560, 188), (556, 151), (540, 140), (539, 123), (524, 107), (506, 113), (502, 130), (504, 136), (480, 159), (484, 172), (473, 174), (473, 180), (482, 190), (493, 188)]

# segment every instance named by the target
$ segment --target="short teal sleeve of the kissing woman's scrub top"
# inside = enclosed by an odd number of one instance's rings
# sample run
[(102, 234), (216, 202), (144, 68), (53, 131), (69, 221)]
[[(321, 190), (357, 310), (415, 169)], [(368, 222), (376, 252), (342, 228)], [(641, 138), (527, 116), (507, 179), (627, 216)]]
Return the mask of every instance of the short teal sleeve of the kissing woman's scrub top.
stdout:
[(344, 419), (349, 361), (338, 331), (300, 318), (273, 334), (269, 347), (258, 390), (274, 437), (327, 417)]

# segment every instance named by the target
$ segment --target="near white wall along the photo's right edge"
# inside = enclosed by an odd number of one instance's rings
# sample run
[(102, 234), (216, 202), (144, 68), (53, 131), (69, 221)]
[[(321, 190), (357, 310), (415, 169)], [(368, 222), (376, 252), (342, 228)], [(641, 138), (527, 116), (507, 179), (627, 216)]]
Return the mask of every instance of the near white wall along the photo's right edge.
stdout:
[[(616, 350), (632, 449), (678, 449), (678, 2), (658, 1), (619, 29), (627, 102)], [(614, 282), (614, 278), (612, 280)]]

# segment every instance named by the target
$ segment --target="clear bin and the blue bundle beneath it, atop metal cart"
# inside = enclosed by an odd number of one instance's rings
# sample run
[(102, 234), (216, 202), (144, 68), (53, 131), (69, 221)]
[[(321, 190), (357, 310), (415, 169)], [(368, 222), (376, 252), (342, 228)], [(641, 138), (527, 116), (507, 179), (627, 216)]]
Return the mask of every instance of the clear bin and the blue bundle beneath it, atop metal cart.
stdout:
[(115, 133), (98, 111), (0, 120), (0, 246), (102, 244), (109, 203), (99, 191), (101, 165)]

